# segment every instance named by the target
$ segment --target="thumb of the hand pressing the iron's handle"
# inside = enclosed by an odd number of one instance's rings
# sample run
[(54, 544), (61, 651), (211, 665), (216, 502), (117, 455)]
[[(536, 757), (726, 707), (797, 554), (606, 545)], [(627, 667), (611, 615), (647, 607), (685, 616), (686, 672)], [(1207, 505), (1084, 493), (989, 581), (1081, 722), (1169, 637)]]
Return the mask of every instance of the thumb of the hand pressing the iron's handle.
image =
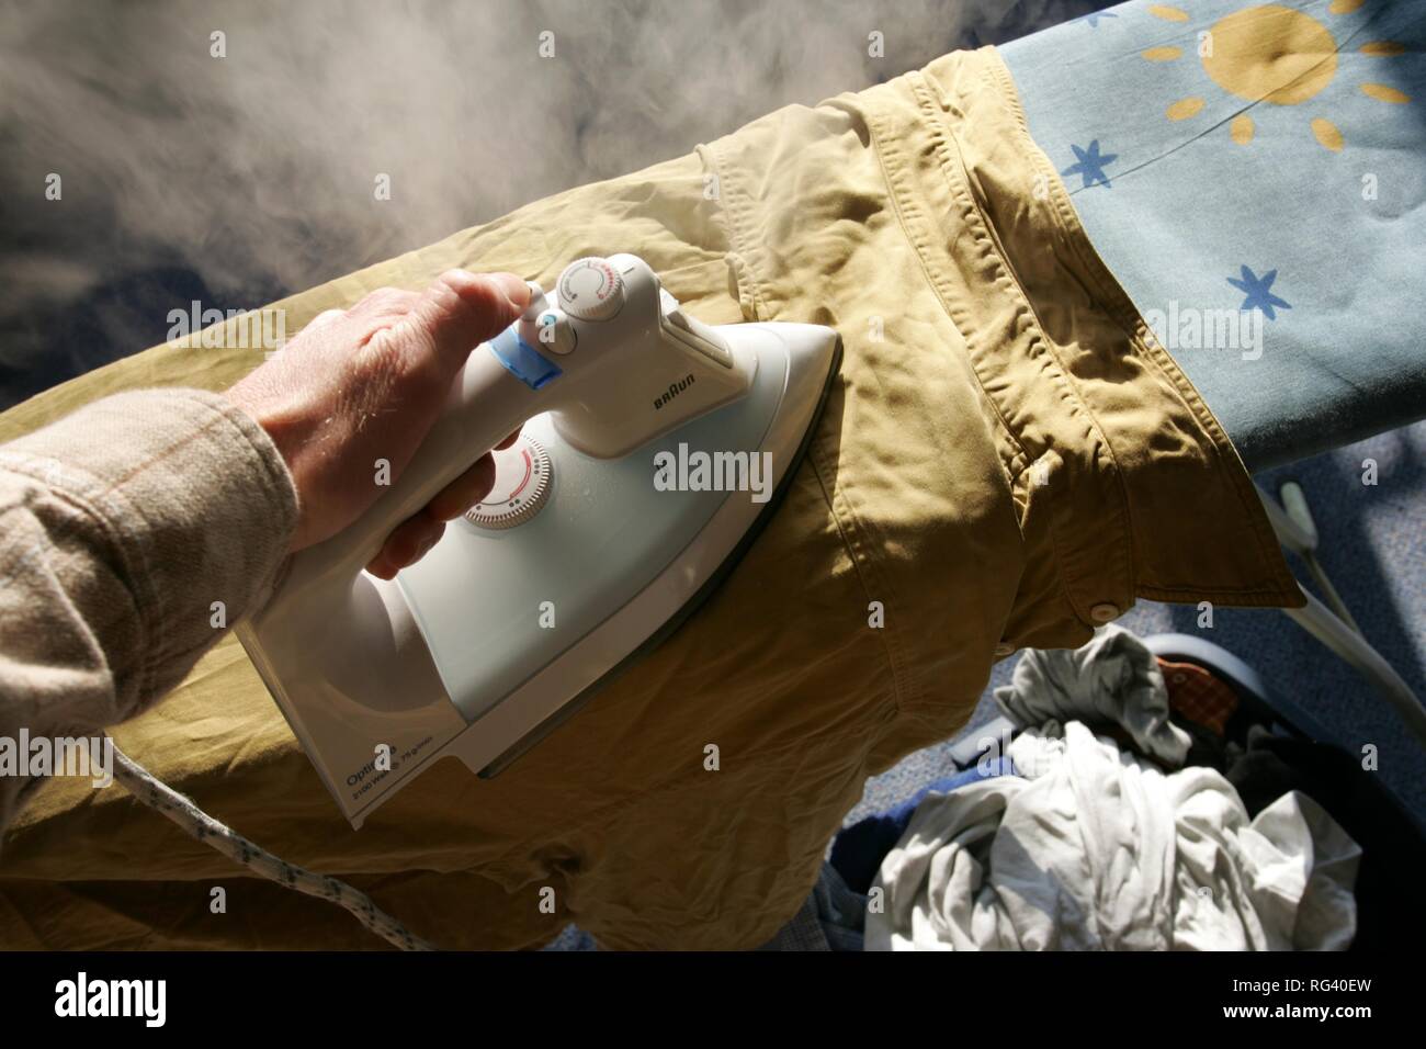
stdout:
[(529, 285), (512, 273), (448, 270), (426, 288), (412, 313), (429, 340), (436, 368), (453, 377), (476, 345), (519, 318), (529, 300)]

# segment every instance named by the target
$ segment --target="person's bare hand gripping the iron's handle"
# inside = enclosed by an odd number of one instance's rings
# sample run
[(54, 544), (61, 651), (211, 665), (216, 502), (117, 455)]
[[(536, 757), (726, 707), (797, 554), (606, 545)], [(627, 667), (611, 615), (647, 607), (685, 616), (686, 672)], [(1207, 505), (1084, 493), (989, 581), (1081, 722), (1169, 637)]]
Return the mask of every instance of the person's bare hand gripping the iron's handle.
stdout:
[[(391, 481), (401, 475), (465, 358), (528, 303), (525, 281), (508, 273), (452, 270), (422, 293), (379, 288), (351, 310), (319, 314), (227, 391), (268, 432), (292, 474), (294, 551), (335, 535), (376, 501), (376, 460), (391, 464)], [(396, 525), (366, 571), (389, 579), (421, 559), (445, 522), (485, 498), (493, 482), (486, 454)]]

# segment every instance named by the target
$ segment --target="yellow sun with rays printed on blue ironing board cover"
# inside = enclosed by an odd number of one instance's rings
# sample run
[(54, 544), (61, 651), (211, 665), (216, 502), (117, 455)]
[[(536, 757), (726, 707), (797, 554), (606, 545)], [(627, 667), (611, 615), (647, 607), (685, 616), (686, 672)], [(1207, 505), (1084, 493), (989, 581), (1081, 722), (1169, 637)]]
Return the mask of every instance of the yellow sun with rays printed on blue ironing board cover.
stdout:
[[(1332, 14), (1349, 14), (1360, 6), (1360, 0), (1333, 0), (1328, 10)], [(1154, 4), (1148, 10), (1165, 21), (1186, 21), (1189, 17), (1178, 7), (1164, 4)], [(1228, 94), (1249, 103), (1301, 106), (1322, 94), (1338, 73), (1338, 44), (1332, 31), (1310, 14), (1292, 7), (1245, 7), (1219, 19), (1202, 37), (1199, 60), (1208, 78)], [(1405, 50), (1392, 40), (1373, 40), (1362, 44), (1360, 54), (1389, 59)], [(1154, 63), (1178, 61), (1182, 56), (1184, 51), (1172, 46), (1151, 47), (1141, 53), (1142, 59)], [(1410, 101), (1407, 94), (1387, 84), (1365, 83), (1358, 84), (1358, 88), (1378, 101)], [(1204, 106), (1204, 98), (1189, 96), (1174, 101), (1165, 116), (1169, 120), (1189, 120)], [(1323, 148), (1340, 153), (1343, 140), (1336, 124), (1326, 117), (1313, 117), (1308, 126)], [(1253, 118), (1239, 113), (1229, 123), (1228, 133), (1235, 143), (1246, 146), (1252, 141), (1255, 128)]]

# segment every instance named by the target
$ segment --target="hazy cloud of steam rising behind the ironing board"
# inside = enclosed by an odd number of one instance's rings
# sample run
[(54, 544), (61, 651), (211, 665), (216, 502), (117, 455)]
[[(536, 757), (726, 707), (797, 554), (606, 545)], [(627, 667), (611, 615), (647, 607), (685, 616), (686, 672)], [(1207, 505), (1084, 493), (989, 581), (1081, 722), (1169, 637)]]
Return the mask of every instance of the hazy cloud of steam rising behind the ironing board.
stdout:
[(257, 307), (1097, 6), (0, 4), (0, 407), (163, 341), (190, 298)]

